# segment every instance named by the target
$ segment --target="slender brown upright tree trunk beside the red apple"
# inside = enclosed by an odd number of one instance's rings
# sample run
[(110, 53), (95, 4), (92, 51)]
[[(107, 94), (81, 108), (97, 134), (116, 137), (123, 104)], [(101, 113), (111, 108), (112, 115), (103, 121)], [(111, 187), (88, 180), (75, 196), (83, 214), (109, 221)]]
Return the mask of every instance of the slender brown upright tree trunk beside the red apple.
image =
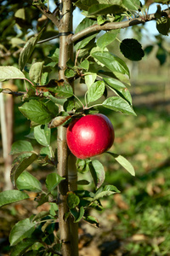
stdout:
[[(71, 0), (61, 1), (59, 8), (60, 26), (59, 33), (59, 79), (65, 79), (66, 62), (72, 57), (72, 45), (67, 44), (66, 33), (72, 30), (72, 3)], [(63, 107), (59, 106), (59, 112), (63, 111)], [(59, 232), (62, 244), (63, 256), (77, 256), (77, 224), (73, 224), (72, 218), (65, 221), (65, 213), (69, 211), (66, 204), (66, 193), (69, 189), (76, 189), (77, 175), (75, 175), (76, 167), (69, 168), (70, 181), (68, 179), (68, 148), (66, 143), (66, 128), (59, 126), (58, 128), (58, 173), (65, 180), (59, 183)], [(73, 177), (73, 178), (71, 178)], [(70, 187), (69, 187), (69, 183)], [(73, 185), (74, 183), (74, 185)]]

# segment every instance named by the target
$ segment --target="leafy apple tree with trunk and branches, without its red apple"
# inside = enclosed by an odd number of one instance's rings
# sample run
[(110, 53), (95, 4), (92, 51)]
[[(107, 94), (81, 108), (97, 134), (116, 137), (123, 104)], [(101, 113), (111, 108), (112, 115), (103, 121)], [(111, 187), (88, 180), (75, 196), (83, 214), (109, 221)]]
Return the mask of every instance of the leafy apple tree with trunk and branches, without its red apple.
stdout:
[[(142, 5), (139, 0), (60, 0), (55, 3), (9, 0), (1, 3), (0, 81), (4, 86), (0, 91), (20, 97), (19, 111), (30, 120), (31, 133), (11, 147), (14, 163), (10, 178), (14, 189), (0, 193), (0, 207), (27, 200), (29, 191), (36, 192), (37, 206), (50, 204), (48, 212), (32, 214), (14, 225), (9, 235), (12, 256), (77, 256), (79, 221), (98, 227), (98, 220), (89, 215), (89, 209), (101, 210), (101, 198), (120, 192), (113, 185), (105, 185), (105, 169), (99, 160), (88, 156), (76, 158), (71, 154), (66, 131), (75, 120), (98, 116), (101, 108), (135, 115), (128, 90), (130, 73), (123, 60), (125, 57), (140, 61), (144, 50), (137, 39), (120, 41), (118, 37), (122, 29), (144, 25), (150, 20), (156, 20), (158, 32), (167, 35), (170, 12), (168, 8), (162, 10), (159, 4), (167, 1), (155, 2), (157, 10), (151, 15), (149, 4)], [(73, 32), (76, 8), (84, 19)], [(50, 43), (53, 39), (57, 41)], [(119, 40), (123, 60), (107, 49), (116, 40)], [(5, 87), (5, 81), (11, 79), (18, 90)], [(84, 84), (86, 91), (82, 99), (77, 91), (84, 88)], [(57, 147), (54, 148), (51, 133), (56, 130)], [(39, 152), (33, 148), (31, 139), (39, 143)], [(111, 144), (107, 144), (105, 150), (110, 147)], [(99, 153), (94, 150), (93, 156), (95, 154)], [(107, 154), (134, 175), (133, 166), (122, 155), (111, 151)], [(52, 165), (56, 170), (46, 177), (45, 189), (26, 171), (34, 162), (40, 166)], [(88, 188), (89, 182), (77, 180), (79, 172), (90, 173), (94, 189), (82, 189)]]

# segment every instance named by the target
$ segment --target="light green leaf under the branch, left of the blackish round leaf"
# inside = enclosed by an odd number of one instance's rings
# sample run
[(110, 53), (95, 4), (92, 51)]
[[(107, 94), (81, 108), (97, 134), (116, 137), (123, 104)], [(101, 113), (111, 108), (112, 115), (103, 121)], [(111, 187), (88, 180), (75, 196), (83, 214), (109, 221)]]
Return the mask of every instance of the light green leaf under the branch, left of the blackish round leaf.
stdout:
[(103, 51), (108, 44), (111, 44), (116, 39), (119, 32), (119, 29), (111, 30), (109, 32), (105, 32), (104, 35), (98, 38), (96, 44), (99, 46), (101, 51)]

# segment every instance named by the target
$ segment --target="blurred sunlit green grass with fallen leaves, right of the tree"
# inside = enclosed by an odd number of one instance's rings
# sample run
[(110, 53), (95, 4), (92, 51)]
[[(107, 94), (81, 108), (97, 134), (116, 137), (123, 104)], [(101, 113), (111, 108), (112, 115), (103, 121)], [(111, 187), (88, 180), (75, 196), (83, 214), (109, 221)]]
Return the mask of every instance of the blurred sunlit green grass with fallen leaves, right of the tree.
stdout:
[(131, 177), (111, 156), (100, 157), (106, 183), (122, 191), (104, 201), (116, 214), (112, 224), (122, 241), (120, 255), (170, 255), (170, 116), (162, 102), (148, 106), (152, 89), (142, 106), (134, 106), (137, 117), (107, 113), (116, 131), (111, 151), (126, 157), (136, 172)]

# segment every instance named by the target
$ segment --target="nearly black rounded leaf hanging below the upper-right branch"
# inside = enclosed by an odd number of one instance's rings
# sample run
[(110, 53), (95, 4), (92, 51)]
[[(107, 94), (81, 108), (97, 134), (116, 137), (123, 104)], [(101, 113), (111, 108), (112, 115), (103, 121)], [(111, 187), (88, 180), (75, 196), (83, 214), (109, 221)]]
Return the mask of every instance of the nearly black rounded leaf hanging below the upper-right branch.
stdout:
[(142, 45), (133, 38), (122, 40), (120, 44), (122, 54), (131, 61), (140, 61), (144, 57), (144, 50)]

